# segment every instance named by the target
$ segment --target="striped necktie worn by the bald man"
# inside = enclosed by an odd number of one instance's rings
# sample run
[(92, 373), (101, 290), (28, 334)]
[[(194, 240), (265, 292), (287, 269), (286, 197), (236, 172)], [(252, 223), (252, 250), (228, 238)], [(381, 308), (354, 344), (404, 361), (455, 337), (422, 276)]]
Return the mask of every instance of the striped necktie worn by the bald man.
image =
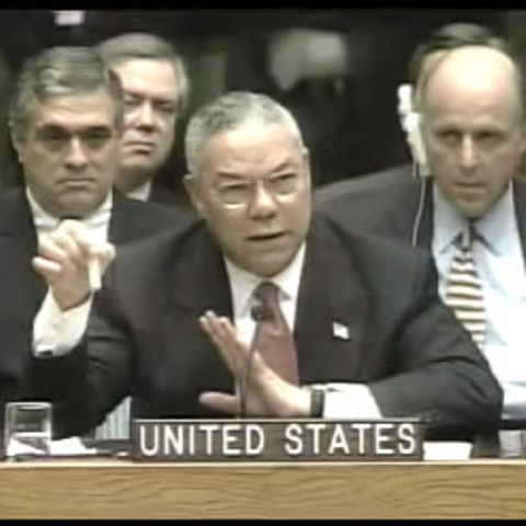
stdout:
[(485, 308), (482, 282), (472, 252), (476, 237), (474, 228), (470, 226), (457, 238), (457, 249), (447, 278), (445, 304), (482, 348), (485, 341)]

